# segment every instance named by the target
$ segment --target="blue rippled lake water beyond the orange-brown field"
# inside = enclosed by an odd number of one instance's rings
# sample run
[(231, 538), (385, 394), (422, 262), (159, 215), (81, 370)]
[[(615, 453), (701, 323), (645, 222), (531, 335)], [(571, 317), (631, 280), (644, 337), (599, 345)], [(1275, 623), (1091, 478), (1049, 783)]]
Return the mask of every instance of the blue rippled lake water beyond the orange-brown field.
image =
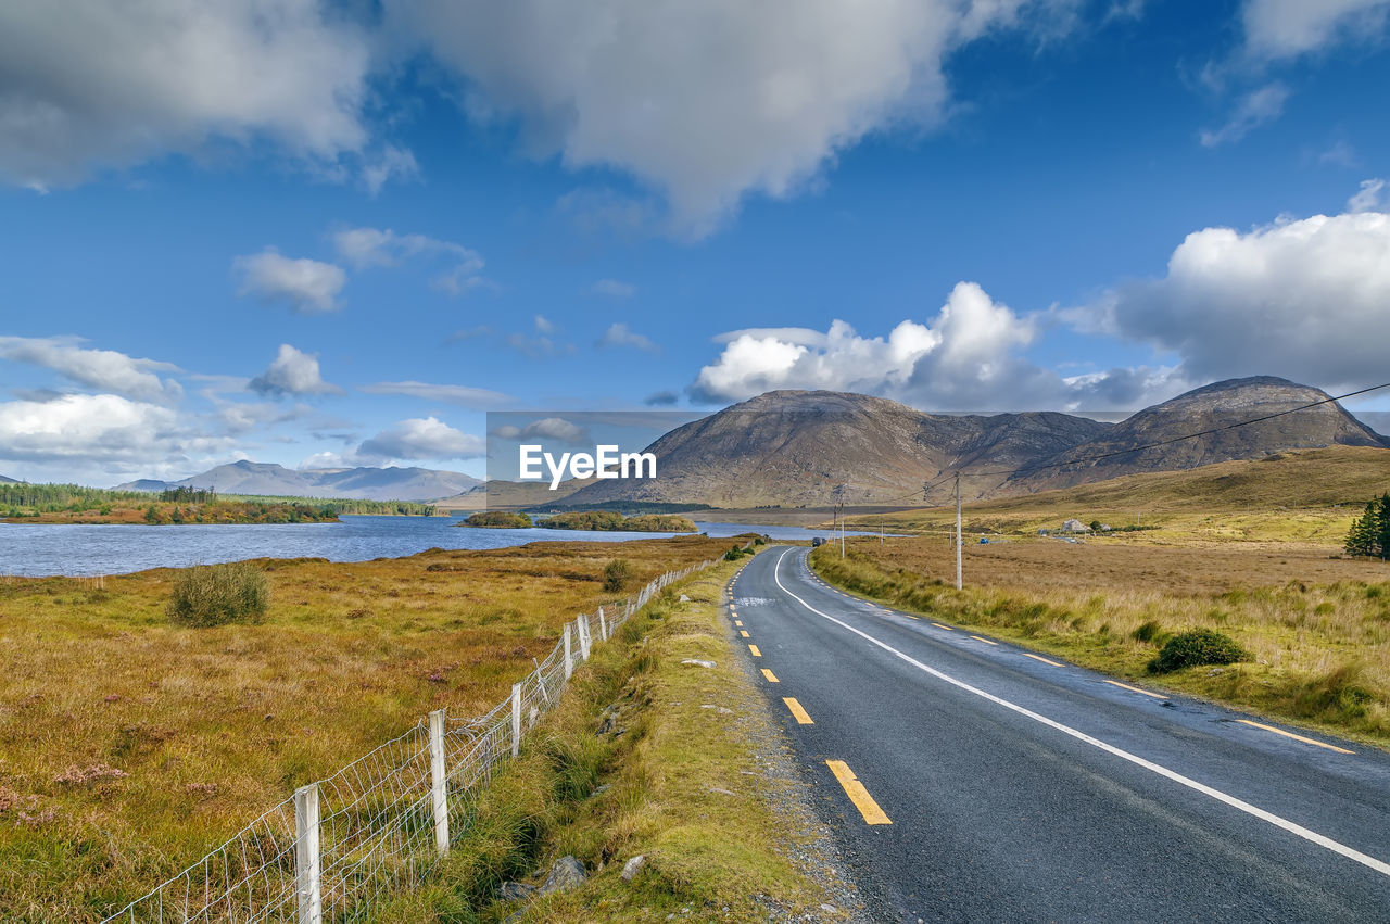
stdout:
[[(32, 525), (0, 522), (0, 574), (93, 575), (240, 559), (396, 559), (431, 547), (502, 549), (539, 541), (626, 542), (671, 534), (474, 529), (450, 517), (343, 517), (342, 522), (239, 525)], [(826, 531), (698, 522), (712, 536), (809, 539)]]

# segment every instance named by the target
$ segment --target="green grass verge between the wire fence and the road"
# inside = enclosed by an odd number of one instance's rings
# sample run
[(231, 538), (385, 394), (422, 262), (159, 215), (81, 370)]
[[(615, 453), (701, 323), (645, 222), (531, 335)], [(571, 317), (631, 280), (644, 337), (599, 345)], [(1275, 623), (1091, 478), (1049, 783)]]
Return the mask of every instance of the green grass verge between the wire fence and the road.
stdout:
[[(669, 589), (596, 646), (564, 703), (480, 796), (474, 825), (436, 875), (373, 920), (499, 921), (524, 910), (530, 921), (742, 921), (767, 920), (770, 903), (817, 909), (824, 891), (787, 859), (801, 835), (776, 817), (734, 721), (760, 704), (731, 663), (720, 616), (739, 566), (721, 563)], [(681, 593), (691, 600), (677, 602)], [(624, 731), (600, 735), (613, 706)], [(502, 882), (538, 885), (534, 874), (564, 855), (584, 863), (584, 885), (530, 903), (496, 900)], [(624, 882), (635, 855), (646, 864)]]

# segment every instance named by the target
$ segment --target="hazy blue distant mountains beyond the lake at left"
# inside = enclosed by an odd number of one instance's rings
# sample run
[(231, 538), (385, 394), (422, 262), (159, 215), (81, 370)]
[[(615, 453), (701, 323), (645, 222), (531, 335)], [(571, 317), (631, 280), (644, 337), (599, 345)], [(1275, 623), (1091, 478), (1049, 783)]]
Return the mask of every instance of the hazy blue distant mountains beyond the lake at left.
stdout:
[(434, 500), (457, 495), (481, 482), (457, 471), (431, 468), (307, 468), (247, 460), (218, 465), (182, 481), (142, 478), (117, 490), (158, 492), (170, 488), (215, 488), (224, 495), (279, 495), (295, 497), (348, 497), (353, 500)]

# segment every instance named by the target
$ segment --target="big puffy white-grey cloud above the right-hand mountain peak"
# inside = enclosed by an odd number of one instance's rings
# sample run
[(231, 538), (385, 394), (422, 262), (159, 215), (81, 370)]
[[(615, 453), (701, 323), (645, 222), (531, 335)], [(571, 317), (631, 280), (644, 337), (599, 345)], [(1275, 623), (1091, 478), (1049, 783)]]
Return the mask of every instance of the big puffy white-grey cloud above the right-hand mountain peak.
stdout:
[(1390, 215), (1366, 211), (1205, 228), (1165, 277), (1119, 286), (1072, 320), (1176, 353), (1190, 381), (1275, 374), (1352, 389), (1386, 378), (1387, 304)]

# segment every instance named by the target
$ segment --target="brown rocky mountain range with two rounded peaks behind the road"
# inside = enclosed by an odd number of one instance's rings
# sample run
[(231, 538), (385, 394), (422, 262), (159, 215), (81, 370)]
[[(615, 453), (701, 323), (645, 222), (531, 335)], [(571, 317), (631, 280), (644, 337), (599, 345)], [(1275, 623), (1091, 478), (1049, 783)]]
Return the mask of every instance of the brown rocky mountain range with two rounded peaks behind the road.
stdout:
[[(657, 478), (598, 481), (563, 504), (819, 507), (834, 503), (837, 485), (845, 485), (851, 506), (920, 503), (924, 485), (929, 500), (942, 502), (958, 468), (962, 493), (976, 500), (1289, 449), (1390, 447), (1336, 403), (1229, 428), (1325, 399), (1325, 392), (1287, 379), (1230, 379), (1102, 424), (1051, 411), (927, 414), (865, 395), (769, 392), (652, 443)], [(1208, 429), (1215, 432), (1177, 439)]]

